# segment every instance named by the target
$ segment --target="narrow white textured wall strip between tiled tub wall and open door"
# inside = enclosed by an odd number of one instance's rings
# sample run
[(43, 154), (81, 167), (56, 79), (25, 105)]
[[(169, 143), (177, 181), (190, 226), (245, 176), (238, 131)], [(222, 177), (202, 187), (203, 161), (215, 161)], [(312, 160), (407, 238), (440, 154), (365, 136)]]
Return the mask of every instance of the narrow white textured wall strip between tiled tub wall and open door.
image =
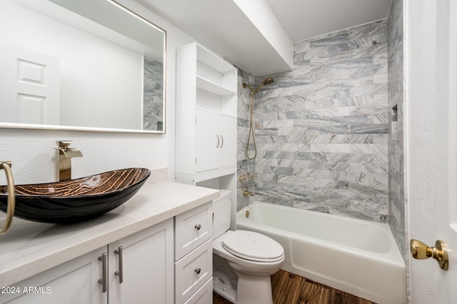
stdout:
[[(435, 243), (436, 1), (404, 0), (406, 240)], [(410, 259), (411, 303), (435, 303), (436, 265)]]

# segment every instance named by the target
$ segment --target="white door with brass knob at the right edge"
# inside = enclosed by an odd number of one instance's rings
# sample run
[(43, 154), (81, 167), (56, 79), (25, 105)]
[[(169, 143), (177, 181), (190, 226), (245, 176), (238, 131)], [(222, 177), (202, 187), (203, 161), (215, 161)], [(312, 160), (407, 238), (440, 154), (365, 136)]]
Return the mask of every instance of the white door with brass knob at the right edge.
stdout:
[(436, 303), (457, 303), (457, 1), (437, 2), (436, 239), (447, 244)]

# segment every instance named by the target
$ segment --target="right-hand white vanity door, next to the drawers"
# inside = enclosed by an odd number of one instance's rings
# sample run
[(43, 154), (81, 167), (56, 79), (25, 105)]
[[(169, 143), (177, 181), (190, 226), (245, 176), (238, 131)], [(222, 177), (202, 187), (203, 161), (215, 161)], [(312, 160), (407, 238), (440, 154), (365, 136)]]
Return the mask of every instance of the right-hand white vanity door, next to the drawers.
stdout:
[(109, 303), (173, 303), (173, 243), (171, 218), (109, 244)]

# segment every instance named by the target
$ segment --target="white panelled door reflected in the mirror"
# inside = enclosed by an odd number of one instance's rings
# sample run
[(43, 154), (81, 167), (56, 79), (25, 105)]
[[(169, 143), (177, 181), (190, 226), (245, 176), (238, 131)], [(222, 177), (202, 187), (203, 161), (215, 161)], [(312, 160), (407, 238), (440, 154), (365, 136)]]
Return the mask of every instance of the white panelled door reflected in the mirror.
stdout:
[(59, 59), (0, 44), (0, 121), (59, 125)]

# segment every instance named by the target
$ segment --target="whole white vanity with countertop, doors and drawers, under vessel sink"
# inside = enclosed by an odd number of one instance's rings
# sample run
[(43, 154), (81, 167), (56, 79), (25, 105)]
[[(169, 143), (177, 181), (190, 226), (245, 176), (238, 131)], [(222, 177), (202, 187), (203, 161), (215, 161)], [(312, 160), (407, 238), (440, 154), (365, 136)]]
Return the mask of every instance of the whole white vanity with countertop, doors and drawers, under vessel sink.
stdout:
[[(0, 240), (0, 303), (211, 303), (218, 196), (163, 181), (91, 221), (14, 219)], [(187, 290), (177, 300), (175, 283)]]

